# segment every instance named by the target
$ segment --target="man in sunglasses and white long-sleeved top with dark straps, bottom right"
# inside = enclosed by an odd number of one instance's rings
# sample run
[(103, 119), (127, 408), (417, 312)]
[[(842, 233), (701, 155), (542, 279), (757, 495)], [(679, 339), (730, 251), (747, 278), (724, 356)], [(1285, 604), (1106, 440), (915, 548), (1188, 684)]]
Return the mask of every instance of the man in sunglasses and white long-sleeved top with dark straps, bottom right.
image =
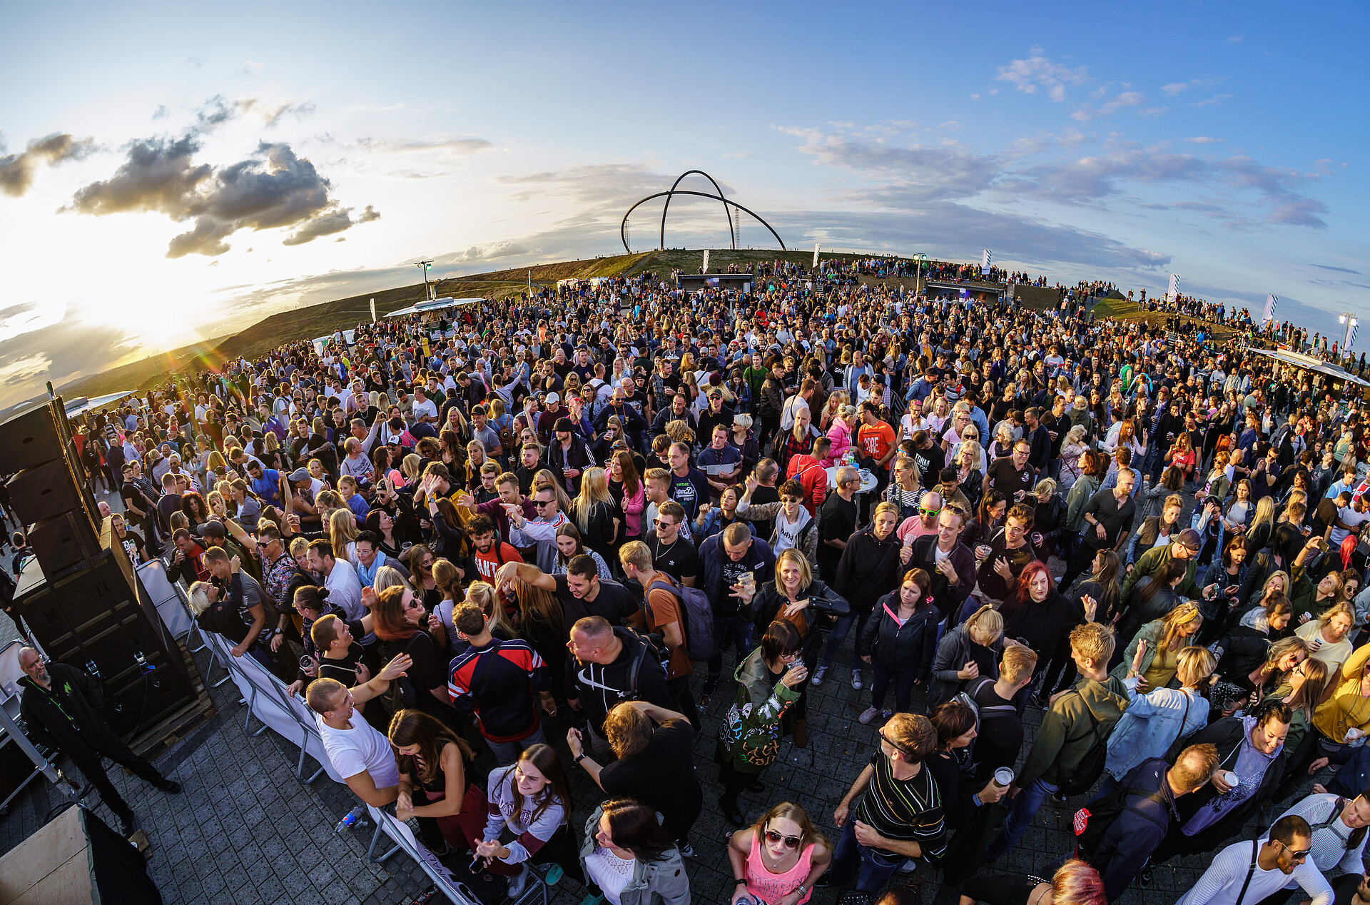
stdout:
[(1255, 905), (1285, 889), (1303, 887), (1311, 905), (1332, 905), (1332, 886), (1308, 860), (1312, 831), (1293, 814), (1281, 817), (1260, 839), (1233, 842), (1175, 905)]

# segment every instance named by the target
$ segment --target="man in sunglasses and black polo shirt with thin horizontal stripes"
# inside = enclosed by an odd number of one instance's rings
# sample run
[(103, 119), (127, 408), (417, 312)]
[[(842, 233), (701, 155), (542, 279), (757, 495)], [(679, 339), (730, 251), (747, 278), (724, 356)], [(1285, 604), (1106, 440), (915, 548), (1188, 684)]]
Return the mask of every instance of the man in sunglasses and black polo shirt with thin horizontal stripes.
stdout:
[(937, 729), (925, 716), (896, 713), (880, 729), (880, 750), (833, 812), (843, 830), (833, 852), (834, 884), (855, 875), (858, 891), (875, 894), (906, 860), (941, 857), (947, 847), (941, 791), (932, 771), (923, 769), (936, 746)]

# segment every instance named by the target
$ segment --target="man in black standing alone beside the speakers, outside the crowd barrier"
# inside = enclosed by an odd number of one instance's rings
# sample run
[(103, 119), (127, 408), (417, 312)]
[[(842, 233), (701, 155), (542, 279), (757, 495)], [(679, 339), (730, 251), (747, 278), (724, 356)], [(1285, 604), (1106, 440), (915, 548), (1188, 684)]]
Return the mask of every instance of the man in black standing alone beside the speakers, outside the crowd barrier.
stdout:
[(133, 835), (133, 809), (110, 782), (101, 757), (127, 767), (164, 793), (181, 791), (179, 783), (134, 754), (104, 721), (104, 690), (99, 681), (75, 666), (45, 664), (32, 647), (19, 650), (19, 668), (25, 673), (19, 680), (23, 687), (19, 713), (34, 740), (60, 750), (75, 762), (119, 819), (119, 832)]

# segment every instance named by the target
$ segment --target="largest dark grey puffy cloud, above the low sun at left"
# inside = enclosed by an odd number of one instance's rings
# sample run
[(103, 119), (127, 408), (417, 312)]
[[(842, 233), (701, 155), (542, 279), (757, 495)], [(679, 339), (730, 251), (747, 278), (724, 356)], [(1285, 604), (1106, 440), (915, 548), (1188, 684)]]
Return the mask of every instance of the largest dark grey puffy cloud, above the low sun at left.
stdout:
[[(222, 255), (227, 239), (240, 229), (290, 228), (286, 245), (300, 245), (349, 226), (351, 210), (332, 196), (332, 184), (286, 143), (258, 144), (255, 154), (225, 167), (196, 163), (199, 134), (233, 115), (233, 107), (211, 103), (178, 138), (141, 138), (129, 145), (115, 174), (82, 186), (64, 211), (105, 217), (121, 213), (159, 213), (173, 221), (195, 221), (175, 236), (169, 258), (189, 254)], [(374, 208), (363, 214), (375, 219)]]

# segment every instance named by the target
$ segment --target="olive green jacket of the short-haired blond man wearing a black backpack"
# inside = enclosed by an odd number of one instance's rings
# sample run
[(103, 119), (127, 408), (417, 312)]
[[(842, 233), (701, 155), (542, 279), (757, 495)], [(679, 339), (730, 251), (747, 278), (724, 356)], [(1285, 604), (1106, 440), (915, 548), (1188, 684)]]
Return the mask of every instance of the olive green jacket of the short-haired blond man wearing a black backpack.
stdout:
[(1081, 679), (1075, 694), (1063, 694), (1047, 710), (1028, 761), (1014, 783), (1026, 788), (1038, 779), (1063, 784), (1095, 746), (1104, 742), (1128, 709), (1128, 688), (1117, 676), (1106, 681)]

